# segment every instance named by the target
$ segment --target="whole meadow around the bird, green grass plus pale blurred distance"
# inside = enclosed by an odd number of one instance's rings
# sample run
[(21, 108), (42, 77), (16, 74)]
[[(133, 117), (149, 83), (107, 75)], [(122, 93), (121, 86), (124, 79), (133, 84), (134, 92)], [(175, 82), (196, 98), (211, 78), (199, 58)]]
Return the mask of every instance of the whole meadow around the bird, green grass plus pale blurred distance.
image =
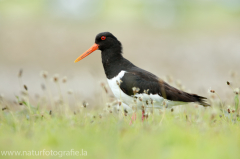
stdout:
[[(237, 0), (0, 1), (0, 159), (239, 159), (239, 19)], [(103, 31), (211, 106), (149, 109), (144, 121), (138, 110), (129, 124), (100, 51), (74, 63)]]

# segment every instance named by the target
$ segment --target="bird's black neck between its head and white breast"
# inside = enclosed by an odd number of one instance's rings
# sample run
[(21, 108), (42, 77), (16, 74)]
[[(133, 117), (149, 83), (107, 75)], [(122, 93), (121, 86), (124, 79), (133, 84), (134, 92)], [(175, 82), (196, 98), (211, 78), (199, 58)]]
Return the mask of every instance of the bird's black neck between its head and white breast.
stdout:
[(117, 49), (106, 49), (102, 51), (102, 63), (105, 74), (108, 79), (112, 79), (117, 76), (122, 70), (127, 70), (134, 65), (125, 59), (121, 50)]

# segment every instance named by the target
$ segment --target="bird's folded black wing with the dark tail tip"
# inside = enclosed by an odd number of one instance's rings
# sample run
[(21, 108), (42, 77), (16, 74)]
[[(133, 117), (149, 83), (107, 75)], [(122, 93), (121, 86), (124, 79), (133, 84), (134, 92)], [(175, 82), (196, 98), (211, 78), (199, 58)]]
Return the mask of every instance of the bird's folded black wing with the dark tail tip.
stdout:
[(171, 101), (198, 102), (203, 106), (209, 106), (205, 102), (207, 98), (178, 90), (154, 74), (138, 67), (132, 67), (128, 70), (121, 81), (121, 90), (129, 96), (134, 95), (132, 88), (136, 87), (140, 89), (138, 93), (144, 93), (144, 90), (148, 90), (148, 94), (158, 94)]

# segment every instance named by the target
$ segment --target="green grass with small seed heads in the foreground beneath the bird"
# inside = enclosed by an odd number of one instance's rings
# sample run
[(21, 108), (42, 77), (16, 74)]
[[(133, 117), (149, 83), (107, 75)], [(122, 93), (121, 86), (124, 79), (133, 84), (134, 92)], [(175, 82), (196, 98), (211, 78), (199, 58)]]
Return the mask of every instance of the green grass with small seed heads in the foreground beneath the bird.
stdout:
[[(60, 80), (55, 82), (59, 82), (56, 84), (60, 90)], [(107, 89), (102, 86), (104, 90)], [(215, 95), (211, 98), (212, 107), (189, 104), (174, 111), (156, 110), (154, 118), (150, 113), (144, 122), (139, 111), (132, 125), (129, 125), (131, 114), (123, 117), (113, 104), (97, 109), (84, 102), (74, 103), (76, 107), (69, 108), (64, 96), (53, 105), (51, 97), (33, 102), (29, 96), (25, 92), (18, 97), (21, 108), (15, 108), (11, 102), (1, 99), (0, 151), (74, 149), (86, 155), (66, 156), (64, 152), (59, 152), (56, 156), (45, 154), (47, 158), (229, 159), (240, 156), (240, 118), (236, 105), (238, 94), (232, 94), (235, 105), (227, 106), (227, 101), (220, 102), (223, 103), (221, 105)], [(62, 96), (61, 92), (59, 96)], [(110, 101), (110, 97), (107, 98)], [(46, 103), (49, 105), (42, 106)], [(33, 158), (17, 156), (26, 157)]]

